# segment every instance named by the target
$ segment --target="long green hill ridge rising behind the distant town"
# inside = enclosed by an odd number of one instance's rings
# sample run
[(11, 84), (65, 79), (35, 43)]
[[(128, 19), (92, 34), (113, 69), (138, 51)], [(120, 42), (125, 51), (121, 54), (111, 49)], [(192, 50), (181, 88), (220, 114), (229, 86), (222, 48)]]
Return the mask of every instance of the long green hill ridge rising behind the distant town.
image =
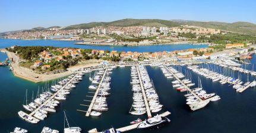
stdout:
[(90, 22), (86, 24), (70, 25), (66, 29), (74, 28), (92, 28), (96, 26), (148, 26), (148, 27), (179, 27), (181, 25), (194, 25), (204, 28), (215, 28), (225, 31), (256, 35), (256, 25), (249, 22), (201, 22), (189, 20), (158, 20), (158, 19), (124, 19), (112, 22)]

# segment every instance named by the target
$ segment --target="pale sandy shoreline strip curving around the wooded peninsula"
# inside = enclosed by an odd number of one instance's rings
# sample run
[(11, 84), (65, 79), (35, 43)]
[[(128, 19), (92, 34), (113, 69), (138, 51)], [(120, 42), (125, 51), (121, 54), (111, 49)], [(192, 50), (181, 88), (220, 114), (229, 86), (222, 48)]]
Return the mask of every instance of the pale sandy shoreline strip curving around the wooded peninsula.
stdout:
[[(86, 63), (82, 62), (82, 63), (78, 64), (77, 66), (69, 67), (67, 69), (67, 72), (64, 72), (64, 73), (38, 74), (38, 73), (34, 73), (33, 70), (21, 67), (19, 65), (20, 58), (18, 56), (16, 56), (14, 53), (9, 52), (5, 49), (2, 49), (2, 50), (6, 52), (8, 59), (10, 60), (10, 63), (11, 63), (10, 65), (14, 69), (14, 70), (12, 70), (12, 73), (14, 74), (14, 76), (29, 80), (34, 83), (45, 82), (45, 81), (56, 79), (59, 77), (68, 76), (68, 75), (72, 74), (72, 72), (75, 70), (78, 70), (78, 69), (84, 68), (84, 67), (97, 66), (97, 65), (99, 65), (99, 62), (100, 62), (100, 60), (97, 60), (97, 61), (91, 60), (91, 61), (87, 61)], [(11, 59), (13, 61), (11, 61)]]

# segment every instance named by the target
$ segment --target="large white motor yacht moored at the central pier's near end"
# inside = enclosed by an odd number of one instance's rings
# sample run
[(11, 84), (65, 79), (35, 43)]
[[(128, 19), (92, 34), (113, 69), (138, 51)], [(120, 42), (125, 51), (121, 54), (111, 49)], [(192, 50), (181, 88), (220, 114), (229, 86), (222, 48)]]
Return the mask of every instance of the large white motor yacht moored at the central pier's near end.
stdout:
[(146, 121), (143, 121), (137, 126), (137, 128), (150, 128), (159, 124), (163, 124), (165, 122), (170, 122), (170, 120), (166, 117), (162, 118), (160, 115), (156, 115), (153, 118), (149, 118)]

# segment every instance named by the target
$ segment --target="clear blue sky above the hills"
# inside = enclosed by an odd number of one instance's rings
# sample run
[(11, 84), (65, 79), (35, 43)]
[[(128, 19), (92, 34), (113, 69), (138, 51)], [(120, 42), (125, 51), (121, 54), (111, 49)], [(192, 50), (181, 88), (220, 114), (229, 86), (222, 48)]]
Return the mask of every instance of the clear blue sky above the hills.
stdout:
[(0, 33), (124, 18), (256, 24), (255, 0), (0, 0)]

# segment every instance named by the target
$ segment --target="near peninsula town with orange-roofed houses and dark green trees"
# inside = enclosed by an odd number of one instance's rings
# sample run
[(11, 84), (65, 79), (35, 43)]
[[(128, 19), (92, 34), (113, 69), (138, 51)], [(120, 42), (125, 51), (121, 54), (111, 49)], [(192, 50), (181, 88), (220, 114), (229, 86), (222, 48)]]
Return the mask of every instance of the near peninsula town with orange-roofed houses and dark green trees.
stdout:
[[(20, 66), (27, 67), (37, 73), (62, 73), (68, 67), (75, 66), (83, 60), (100, 60), (108, 62), (124, 61), (157, 61), (168, 59), (171, 61), (195, 61), (202, 59), (218, 59), (223, 56), (236, 56), (244, 60), (249, 58), (248, 52), (254, 51), (255, 46), (245, 44), (227, 44), (225, 50), (208, 48), (191, 48), (188, 50), (158, 51), (158, 52), (132, 52), (116, 50), (91, 50), (81, 48), (55, 48), (55, 47), (20, 47), (12, 46), (8, 51), (22, 57)], [(32, 55), (29, 51), (35, 51)], [(80, 63), (81, 64), (81, 63)]]

